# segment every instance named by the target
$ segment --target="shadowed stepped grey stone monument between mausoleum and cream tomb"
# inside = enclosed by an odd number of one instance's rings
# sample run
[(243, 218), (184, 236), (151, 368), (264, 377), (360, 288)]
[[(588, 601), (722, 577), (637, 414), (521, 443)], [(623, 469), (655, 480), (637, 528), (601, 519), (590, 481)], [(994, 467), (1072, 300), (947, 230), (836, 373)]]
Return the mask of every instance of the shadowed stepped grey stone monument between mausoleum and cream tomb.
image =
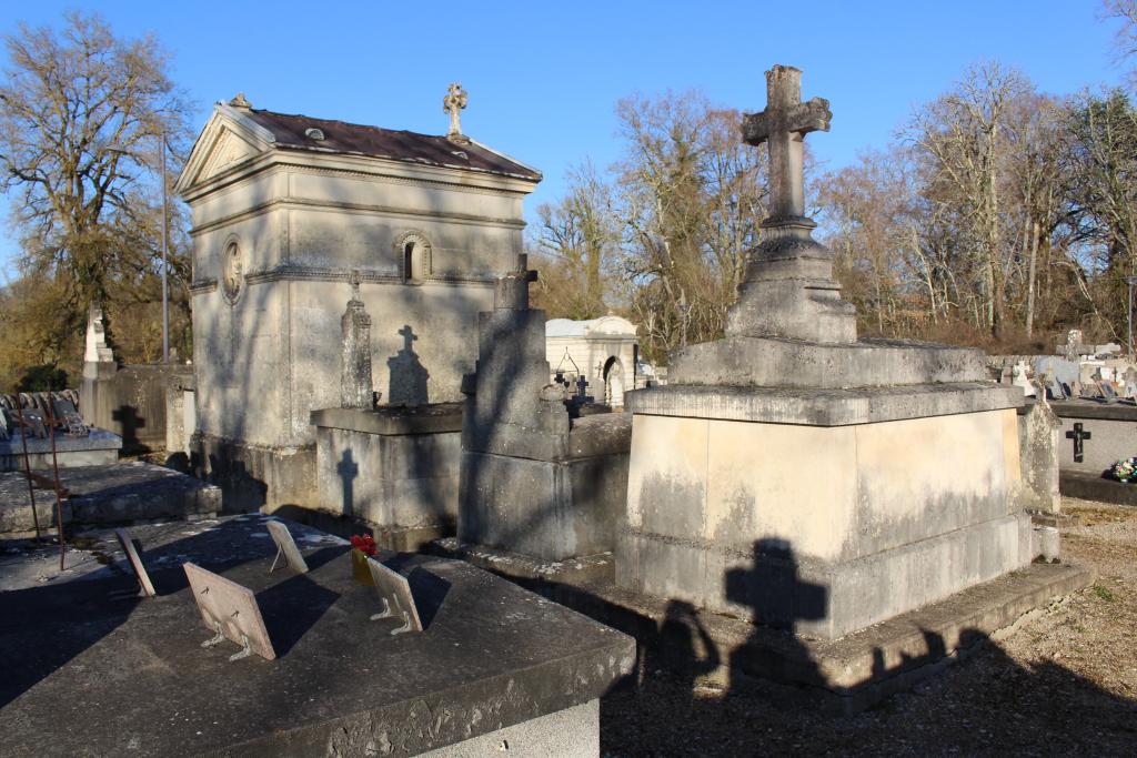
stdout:
[(478, 369), (463, 382), (458, 538), (561, 560), (611, 551), (626, 491), (630, 418), (570, 419), (549, 383), (545, 311), (529, 309), (524, 260), (479, 317)]

